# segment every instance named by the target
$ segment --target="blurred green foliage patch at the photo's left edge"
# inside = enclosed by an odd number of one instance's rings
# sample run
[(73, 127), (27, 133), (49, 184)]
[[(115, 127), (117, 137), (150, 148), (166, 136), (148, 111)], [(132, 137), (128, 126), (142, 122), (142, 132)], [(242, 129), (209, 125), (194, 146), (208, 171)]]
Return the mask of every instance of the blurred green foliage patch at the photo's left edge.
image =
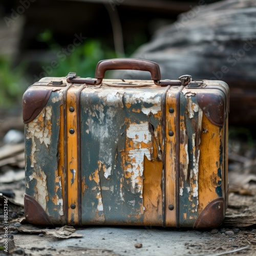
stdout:
[(24, 92), (24, 65), (13, 68), (10, 59), (0, 56), (0, 108), (7, 109), (20, 102)]

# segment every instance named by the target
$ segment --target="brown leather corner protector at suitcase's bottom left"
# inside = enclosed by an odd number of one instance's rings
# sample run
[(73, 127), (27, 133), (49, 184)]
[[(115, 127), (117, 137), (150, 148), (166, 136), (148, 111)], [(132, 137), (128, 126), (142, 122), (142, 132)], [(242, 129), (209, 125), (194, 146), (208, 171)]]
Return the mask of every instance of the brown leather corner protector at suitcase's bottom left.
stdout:
[(34, 225), (52, 225), (49, 216), (41, 205), (32, 197), (25, 194), (24, 213), (26, 220)]

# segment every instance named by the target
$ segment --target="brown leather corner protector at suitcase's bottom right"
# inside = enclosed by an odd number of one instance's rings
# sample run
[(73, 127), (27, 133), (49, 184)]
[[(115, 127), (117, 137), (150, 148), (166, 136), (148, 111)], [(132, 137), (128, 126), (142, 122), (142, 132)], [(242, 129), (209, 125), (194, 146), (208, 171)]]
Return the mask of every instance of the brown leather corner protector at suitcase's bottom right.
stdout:
[(198, 216), (194, 228), (216, 228), (224, 220), (224, 198), (212, 200)]

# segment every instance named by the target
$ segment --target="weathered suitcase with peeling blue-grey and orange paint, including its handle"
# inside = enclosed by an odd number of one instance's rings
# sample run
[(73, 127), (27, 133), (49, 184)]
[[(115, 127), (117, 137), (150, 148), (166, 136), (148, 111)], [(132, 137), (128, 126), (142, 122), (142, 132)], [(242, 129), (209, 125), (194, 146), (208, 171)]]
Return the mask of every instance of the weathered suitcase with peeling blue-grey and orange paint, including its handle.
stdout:
[[(153, 81), (103, 79), (149, 71)], [(67, 78), (68, 77), (68, 78)], [(100, 61), (96, 79), (46, 77), (23, 98), (32, 224), (219, 226), (228, 199), (225, 82), (160, 80), (155, 62)]]

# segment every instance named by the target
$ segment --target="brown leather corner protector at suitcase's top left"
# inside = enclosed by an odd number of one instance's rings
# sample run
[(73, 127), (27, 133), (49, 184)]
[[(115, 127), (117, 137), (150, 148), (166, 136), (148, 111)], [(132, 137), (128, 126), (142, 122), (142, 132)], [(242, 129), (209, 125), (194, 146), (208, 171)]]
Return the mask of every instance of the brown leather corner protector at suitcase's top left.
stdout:
[(46, 105), (52, 90), (27, 90), (23, 95), (23, 121), (35, 119)]

